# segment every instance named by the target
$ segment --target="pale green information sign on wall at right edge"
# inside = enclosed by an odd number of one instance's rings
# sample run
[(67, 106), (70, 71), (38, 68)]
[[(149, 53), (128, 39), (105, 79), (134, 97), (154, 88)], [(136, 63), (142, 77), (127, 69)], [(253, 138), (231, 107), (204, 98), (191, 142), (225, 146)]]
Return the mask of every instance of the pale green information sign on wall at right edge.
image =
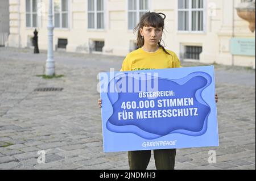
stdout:
[(255, 39), (234, 37), (230, 41), (230, 47), (232, 54), (255, 56)]

